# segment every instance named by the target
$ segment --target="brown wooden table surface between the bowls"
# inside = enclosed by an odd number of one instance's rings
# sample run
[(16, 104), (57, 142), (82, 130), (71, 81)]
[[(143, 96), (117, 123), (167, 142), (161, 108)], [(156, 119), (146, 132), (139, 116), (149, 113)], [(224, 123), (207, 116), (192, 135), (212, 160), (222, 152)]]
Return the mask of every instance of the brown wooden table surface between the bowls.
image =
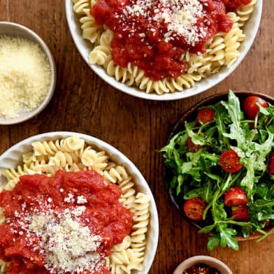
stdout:
[[(262, 0), (258, 0), (262, 1)], [(126, 154), (149, 183), (159, 212), (159, 245), (150, 274), (172, 273), (180, 261), (209, 254), (235, 274), (274, 273), (274, 235), (261, 243), (245, 241), (240, 251), (206, 250), (207, 239), (182, 219), (166, 194), (161, 154), (168, 133), (180, 115), (197, 101), (227, 89), (259, 90), (274, 95), (273, 17), (271, 0), (256, 41), (243, 63), (220, 85), (180, 101), (145, 101), (110, 87), (85, 64), (73, 44), (61, 0), (0, 0), (0, 21), (24, 24), (48, 43), (57, 63), (55, 95), (34, 119), (0, 126), (0, 153), (20, 140), (48, 131), (77, 131), (101, 138)]]

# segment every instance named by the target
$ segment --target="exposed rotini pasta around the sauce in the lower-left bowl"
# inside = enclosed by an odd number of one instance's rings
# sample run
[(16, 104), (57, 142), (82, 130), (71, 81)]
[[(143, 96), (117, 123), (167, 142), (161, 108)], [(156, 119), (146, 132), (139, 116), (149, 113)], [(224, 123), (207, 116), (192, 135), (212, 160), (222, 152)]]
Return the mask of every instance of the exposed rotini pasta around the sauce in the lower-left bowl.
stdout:
[[(85, 3), (85, 1), (82, 1)], [(105, 151), (96, 150), (87, 145), (78, 136), (59, 140), (44, 140), (32, 143), (33, 151), (23, 155), (22, 166), (10, 168), (2, 172), (6, 183), (3, 189), (12, 190), (21, 175), (41, 173), (50, 177), (62, 169), (64, 171), (81, 171), (93, 169), (103, 175), (106, 184), (116, 184), (122, 190), (120, 202), (134, 213), (132, 233), (123, 242), (115, 245), (110, 257), (106, 258), (106, 266), (111, 273), (128, 273), (141, 271), (145, 255), (145, 233), (150, 220), (150, 198), (145, 194), (136, 194), (134, 181), (124, 166), (110, 161)], [(0, 224), (5, 222), (5, 215), (0, 208)], [(0, 260), (0, 270), (6, 271), (8, 263)]]

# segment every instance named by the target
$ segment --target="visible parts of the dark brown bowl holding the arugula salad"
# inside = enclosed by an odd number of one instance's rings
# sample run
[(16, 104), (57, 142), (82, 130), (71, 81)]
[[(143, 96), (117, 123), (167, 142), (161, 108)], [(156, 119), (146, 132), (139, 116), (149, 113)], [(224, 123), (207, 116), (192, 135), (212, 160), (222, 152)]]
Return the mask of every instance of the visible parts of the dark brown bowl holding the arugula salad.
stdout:
[[(262, 99), (270, 102), (271, 104), (274, 104), (274, 98), (273, 97), (271, 97), (269, 95), (266, 95), (266, 94), (261, 94), (260, 92), (251, 92), (251, 91), (247, 91), (247, 90), (239, 90), (239, 91), (236, 91), (234, 93), (240, 99), (240, 103), (243, 103), (243, 100), (247, 96), (260, 96)], [(228, 92), (222, 92), (222, 93), (218, 93), (218, 94), (208, 96), (206, 99), (203, 99), (202, 101), (199, 101), (194, 106), (189, 108), (189, 110), (187, 110), (187, 112), (184, 115), (182, 115), (182, 117), (177, 122), (177, 124), (175, 124), (175, 127), (173, 128), (173, 130), (171, 131), (170, 136), (168, 137), (168, 142), (167, 143), (170, 142), (171, 138), (173, 138), (173, 136), (175, 136), (175, 134), (178, 134), (178, 132), (185, 129), (185, 122), (196, 119), (196, 113), (197, 113), (197, 110), (199, 108), (201, 108), (202, 106), (213, 105), (213, 104), (215, 104), (219, 101), (227, 100), (227, 99), (228, 99)], [(164, 165), (164, 182), (165, 182), (166, 189), (167, 189), (168, 193), (169, 193), (169, 186), (170, 186), (171, 179), (172, 179), (172, 172), (171, 172), (171, 170), (169, 170)], [(206, 225), (209, 224), (209, 223), (204, 222), (204, 221), (203, 222), (194, 222), (194, 221), (187, 218), (187, 216), (185, 215), (185, 212), (182, 210), (182, 206), (183, 206), (182, 195), (175, 196), (173, 194), (169, 194), (169, 196), (171, 198), (172, 203), (175, 205), (175, 207), (181, 213), (182, 217), (184, 217), (184, 219), (186, 219), (188, 222), (190, 222), (194, 226), (196, 226), (197, 229), (201, 229), (201, 228), (203, 228), (203, 226), (206, 226)], [(266, 231), (269, 231), (269, 230), (270, 229), (266, 229)], [(236, 238), (238, 240), (254, 240), (254, 239), (259, 238), (260, 236), (261, 236), (261, 233), (254, 233), (254, 234), (250, 235), (248, 238), (244, 238), (242, 236), (236, 236)]]

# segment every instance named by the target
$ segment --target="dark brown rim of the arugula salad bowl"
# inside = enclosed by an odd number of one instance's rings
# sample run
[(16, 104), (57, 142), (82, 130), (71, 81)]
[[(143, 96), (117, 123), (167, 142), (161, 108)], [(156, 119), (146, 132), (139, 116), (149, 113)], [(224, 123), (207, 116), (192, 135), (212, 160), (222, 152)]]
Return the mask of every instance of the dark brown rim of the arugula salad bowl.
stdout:
[[(261, 97), (263, 97), (263, 99), (271, 101), (274, 104), (274, 97), (272, 97), (268, 94), (263, 94), (261, 92), (248, 91), (248, 90), (244, 90), (244, 89), (236, 90), (233, 92), (237, 96), (261, 96)], [(167, 140), (166, 144), (168, 144), (170, 142), (171, 138), (173, 138), (173, 136), (180, 131), (180, 126), (183, 123), (185, 123), (185, 121), (187, 121), (187, 119), (189, 117), (191, 117), (196, 112), (196, 110), (198, 110), (198, 108), (200, 108), (201, 106), (205, 106), (206, 104), (210, 103), (211, 101), (221, 100), (222, 98), (227, 97), (228, 95), (229, 95), (229, 92), (218, 92), (217, 94), (212, 94), (212, 95), (206, 97), (205, 99), (198, 101), (197, 103), (194, 103), (193, 106), (191, 106), (188, 110), (185, 111), (185, 113), (182, 114), (182, 116), (180, 117), (178, 122), (175, 123), (175, 126), (171, 130), (171, 133), (168, 134), (168, 140)], [(175, 196), (169, 192), (170, 182), (168, 181), (167, 173), (168, 173), (168, 168), (166, 167), (166, 165), (164, 164), (164, 161), (163, 161), (164, 185), (166, 187), (166, 192), (169, 196), (169, 199), (173, 203), (173, 206), (175, 206), (175, 208), (177, 208), (177, 210), (180, 212), (180, 215), (183, 217), (183, 219), (185, 219), (187, 222), (190, 222), (191, 224), (193, 224), (196, 227), (196, 229), (201, 229), (202, 226), (200, 226), (197, 222), (194, 222), (191, 219), (188, 219), (185, 216), (185, 213), (180, 208), (178, 203), (175, 201)], [(268, 231), (268, 230), (269, 229), (266, 229), (266, 231)], [(259, 238), (260, 236), (261, 236), (261, 234), (257, 235), (256, 233), (254, 233), (254, 234), (250, 234), (250, 236), (247, 238), (244, 238), (243, 236), (236, 236), (236, 238), (240, 241), (243, 241), (243, 240), (255, 240), (255, 239)]]

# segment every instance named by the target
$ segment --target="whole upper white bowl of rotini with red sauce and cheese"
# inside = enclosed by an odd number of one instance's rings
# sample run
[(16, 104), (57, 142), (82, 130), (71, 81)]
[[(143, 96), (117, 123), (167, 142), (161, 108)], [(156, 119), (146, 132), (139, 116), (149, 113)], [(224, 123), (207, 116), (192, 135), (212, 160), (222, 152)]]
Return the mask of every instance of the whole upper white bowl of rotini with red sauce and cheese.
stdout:
[(143, 99), (187, 98), (229, 76), (259, 29), (262, 1), (164, 2), (66, 0), (73, 41), (92, 71)]

